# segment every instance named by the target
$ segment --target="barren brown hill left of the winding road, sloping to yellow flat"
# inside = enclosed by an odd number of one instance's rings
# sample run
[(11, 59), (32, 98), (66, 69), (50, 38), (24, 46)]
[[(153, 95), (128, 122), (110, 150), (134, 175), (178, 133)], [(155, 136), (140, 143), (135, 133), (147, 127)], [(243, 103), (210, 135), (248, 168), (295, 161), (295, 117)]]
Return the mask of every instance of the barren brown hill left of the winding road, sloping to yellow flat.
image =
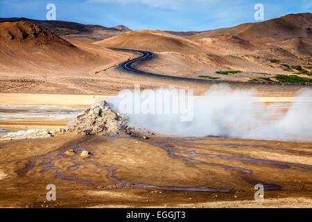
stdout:
[(131, 57), (89, 41), (65, 40), (31, 22), (0, 24), (1, 92), (97, 92), (105, 84), (96, 85), (96, 73)]

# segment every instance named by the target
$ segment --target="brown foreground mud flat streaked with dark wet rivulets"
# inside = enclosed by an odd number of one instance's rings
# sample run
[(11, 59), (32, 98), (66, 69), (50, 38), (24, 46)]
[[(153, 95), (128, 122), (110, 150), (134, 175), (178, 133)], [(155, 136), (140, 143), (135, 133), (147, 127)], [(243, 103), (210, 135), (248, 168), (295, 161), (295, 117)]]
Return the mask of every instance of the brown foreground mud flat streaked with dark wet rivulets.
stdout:
[[(71, 133), (0, 142), (0, 174), (1, 207), (312, 207), (302, 142)], [(46, 202), (51, 183), (57, 201)]]

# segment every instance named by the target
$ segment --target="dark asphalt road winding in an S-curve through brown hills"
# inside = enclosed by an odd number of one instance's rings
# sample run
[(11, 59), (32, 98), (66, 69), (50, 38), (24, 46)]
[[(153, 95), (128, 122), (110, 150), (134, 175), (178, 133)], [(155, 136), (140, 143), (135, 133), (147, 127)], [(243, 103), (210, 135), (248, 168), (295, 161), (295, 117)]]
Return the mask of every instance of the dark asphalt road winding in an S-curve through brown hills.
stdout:
[[(238, 81), (226, 81), (226, 80), (209, 80), (209, 79), (199, 79), (199, 78), (187, 78), (187, 77), (180, 77), (180, 76), (166, 76), (163, 74), (153, 74), (147, 71), (141, 71), (139, 69), (135, 69), (132, 67), (132, 64), (135, 62), (139, 62), (139, 61), (143, 61), (143, 60), (149, 60), (151, 58), (153, 58), (154, 53), (150, 52), (150, 51), (143, 51), (143, 50), (135, 50), (135, 49), (119, 49), (119, 48), (107, 48), (107, 49), (112, 49), (112, 50), (118, 50), (118, 51), (132, 51), (132, 52), (139, 52), (142, 53), (143, 55), (140, 56), (139, 58), (135, 58), (133, 60), (128, 60), (126, 62), (123, 62), (119, 65), (119, 67), (121, 67), (122, 69), (126, 70), (126, 71), (130, 71), (133, 72), (135, 74), (139, 74), (141, 76), (150, 76), (150, 77), (156, 77), (156, 78), (165, 78), (168, 80), (183, 80), (183, 81), (188, 81), (188, 82), (197, 82), (197, 83), (227, 83), (227, 84), (244, 84), (244, 85), (293, 85), (293, 86), (297, 86), (298, 84), (294, 84), (294, 83), (248, 83), (248, 82), (238, 82)], [(306, 86), (306, 85), (304, 85)], [(308, 85), (309, 87), (309, 85)]]

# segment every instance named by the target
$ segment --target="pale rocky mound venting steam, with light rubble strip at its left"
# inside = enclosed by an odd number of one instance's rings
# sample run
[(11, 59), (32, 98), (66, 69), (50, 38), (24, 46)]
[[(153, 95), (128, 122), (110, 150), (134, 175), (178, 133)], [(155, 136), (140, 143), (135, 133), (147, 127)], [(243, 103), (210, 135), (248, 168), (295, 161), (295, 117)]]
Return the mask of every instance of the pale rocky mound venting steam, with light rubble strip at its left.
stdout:
[(8, 133), (0, 137), (0, 140), (37, 139), (71, 132), (84, 135), (131, 136), (144, 139), (154, 135), (154, 133), (150, 133), (148, 130), (128, 121), (125, 115), (114, 112), (109, 103), (102, 101), (101, 105), (96, 105), (80, 112), (73, 126), (69, 128), (21, 130), (15, 133)]

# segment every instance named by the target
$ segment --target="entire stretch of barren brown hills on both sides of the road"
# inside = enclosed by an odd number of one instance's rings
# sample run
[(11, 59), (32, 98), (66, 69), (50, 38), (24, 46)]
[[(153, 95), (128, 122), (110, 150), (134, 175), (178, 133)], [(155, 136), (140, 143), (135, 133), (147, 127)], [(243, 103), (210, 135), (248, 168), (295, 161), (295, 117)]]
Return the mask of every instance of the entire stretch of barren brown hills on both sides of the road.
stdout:
[[(267, 83), (275, 74), (297, 72), (290, 69), (292, 65), (302, 65), (304, 71), (311, 72), (310, 25), (311, 13), (306, 13), (186, 35), (129, 31), (94, 42), (88, 36), (59, 37), (32, 22), (0, 22), (1, 92), (112, 94), (125, 85), (130, 87), (136, 81), (130, 80), (133, 75), (113, 67), (138, 53), (107, 47), (152, 51), (153, 60), (138, 62), (134, 67), (155, 74), (239, 82), (256, 78)], [(263, 30), (273, 26), (278, 36), (268, 37)], [(281, 36), (288, 39), (281, 40)], [(220, 70), (241, 72), (217, 74)], [(148, 84), (154, 82), (146, 84), (150, 87)], [(159, 84), (163, 83), (159, 80)]]

